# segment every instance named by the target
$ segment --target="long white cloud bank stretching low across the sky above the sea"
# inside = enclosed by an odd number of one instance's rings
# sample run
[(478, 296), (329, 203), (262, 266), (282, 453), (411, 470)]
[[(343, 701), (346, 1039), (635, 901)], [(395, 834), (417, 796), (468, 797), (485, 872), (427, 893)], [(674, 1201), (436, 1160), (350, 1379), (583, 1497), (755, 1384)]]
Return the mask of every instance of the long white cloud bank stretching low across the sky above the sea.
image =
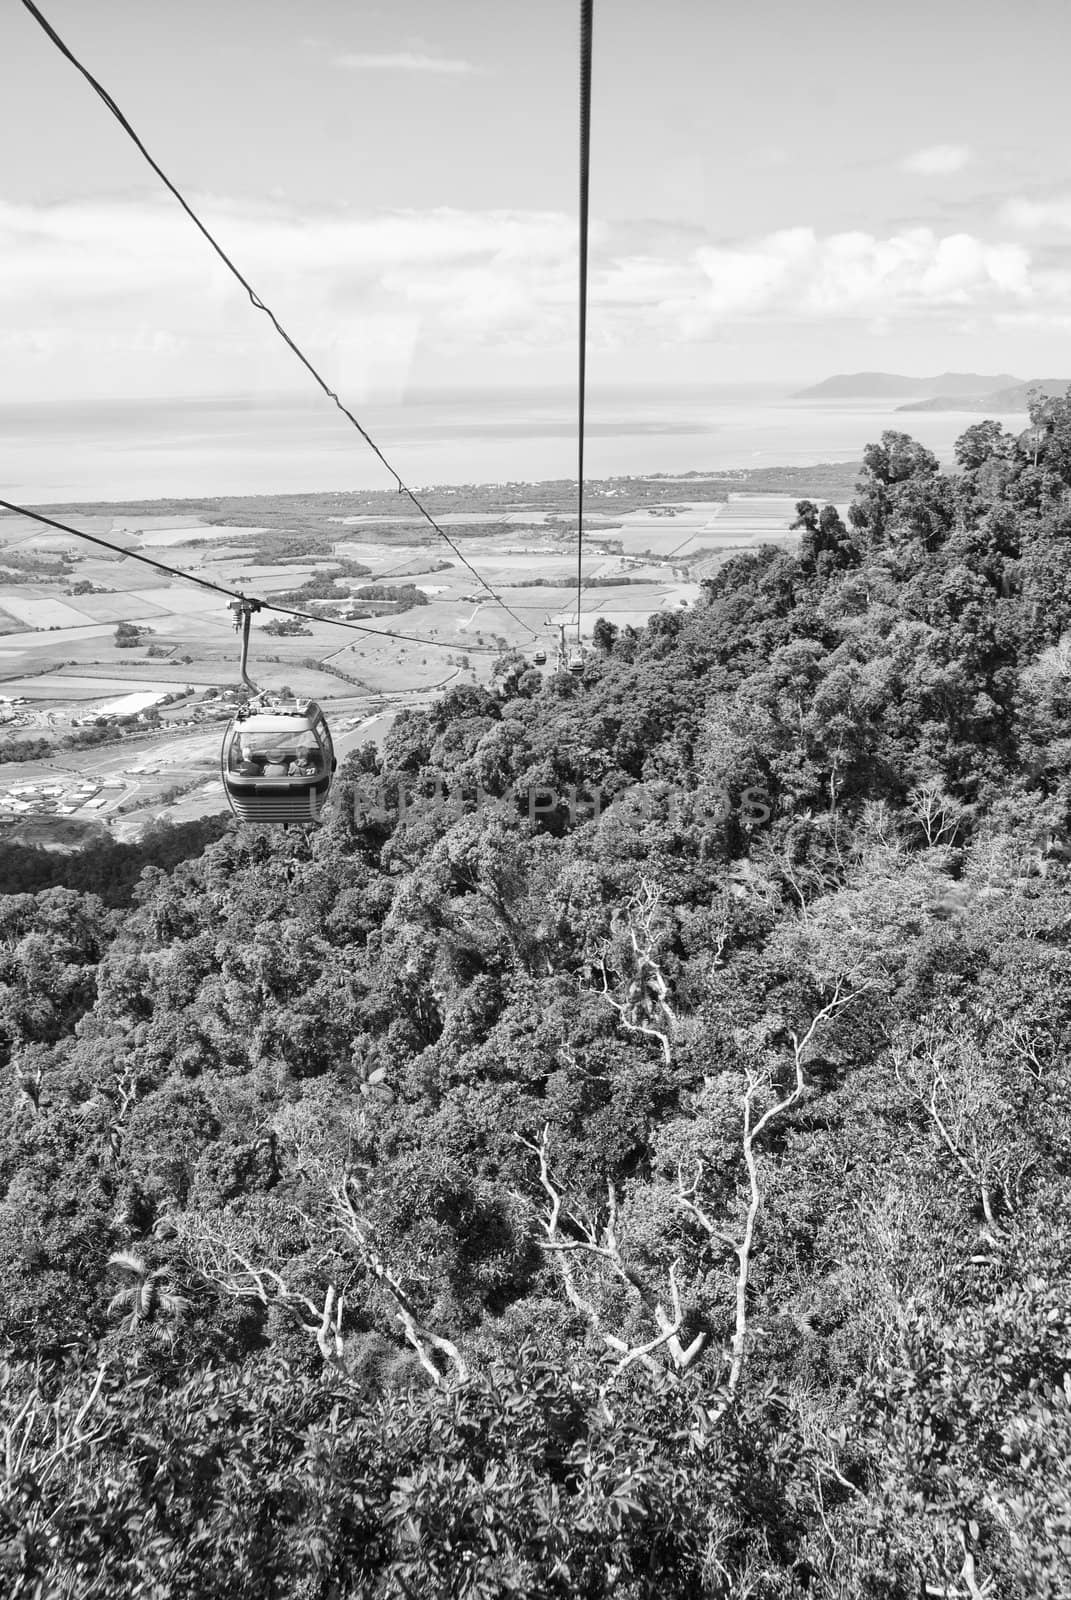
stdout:
[[(480, 349), (565, 352), (576, 336), (572, 214), (192, 202), (283, 326), (354, 395), (362, 373), (387, 363), (403, 374), (418, 350), (464, 362)], [(792, 227), (712, 240), (650, 219), (592, 230), (589, 333), (607, 349), (802, 323), (1058, 328), (1069, 302), (1061, 256), (1021, 238)], [(0, 202), (0, 325), (24, 333), (21, 373), (43, 352), (48, 382), (54, 370), (82, 392), (93, 392), (94, 360), (115, 384), (141, 374), (146, 392), (166, 392), (179, 370), (202, 392), (269, 370), (277, 384), (295, 378), (267, 320), (166, 197)], [(8, 358), (3, 378), (18, 386)]]

